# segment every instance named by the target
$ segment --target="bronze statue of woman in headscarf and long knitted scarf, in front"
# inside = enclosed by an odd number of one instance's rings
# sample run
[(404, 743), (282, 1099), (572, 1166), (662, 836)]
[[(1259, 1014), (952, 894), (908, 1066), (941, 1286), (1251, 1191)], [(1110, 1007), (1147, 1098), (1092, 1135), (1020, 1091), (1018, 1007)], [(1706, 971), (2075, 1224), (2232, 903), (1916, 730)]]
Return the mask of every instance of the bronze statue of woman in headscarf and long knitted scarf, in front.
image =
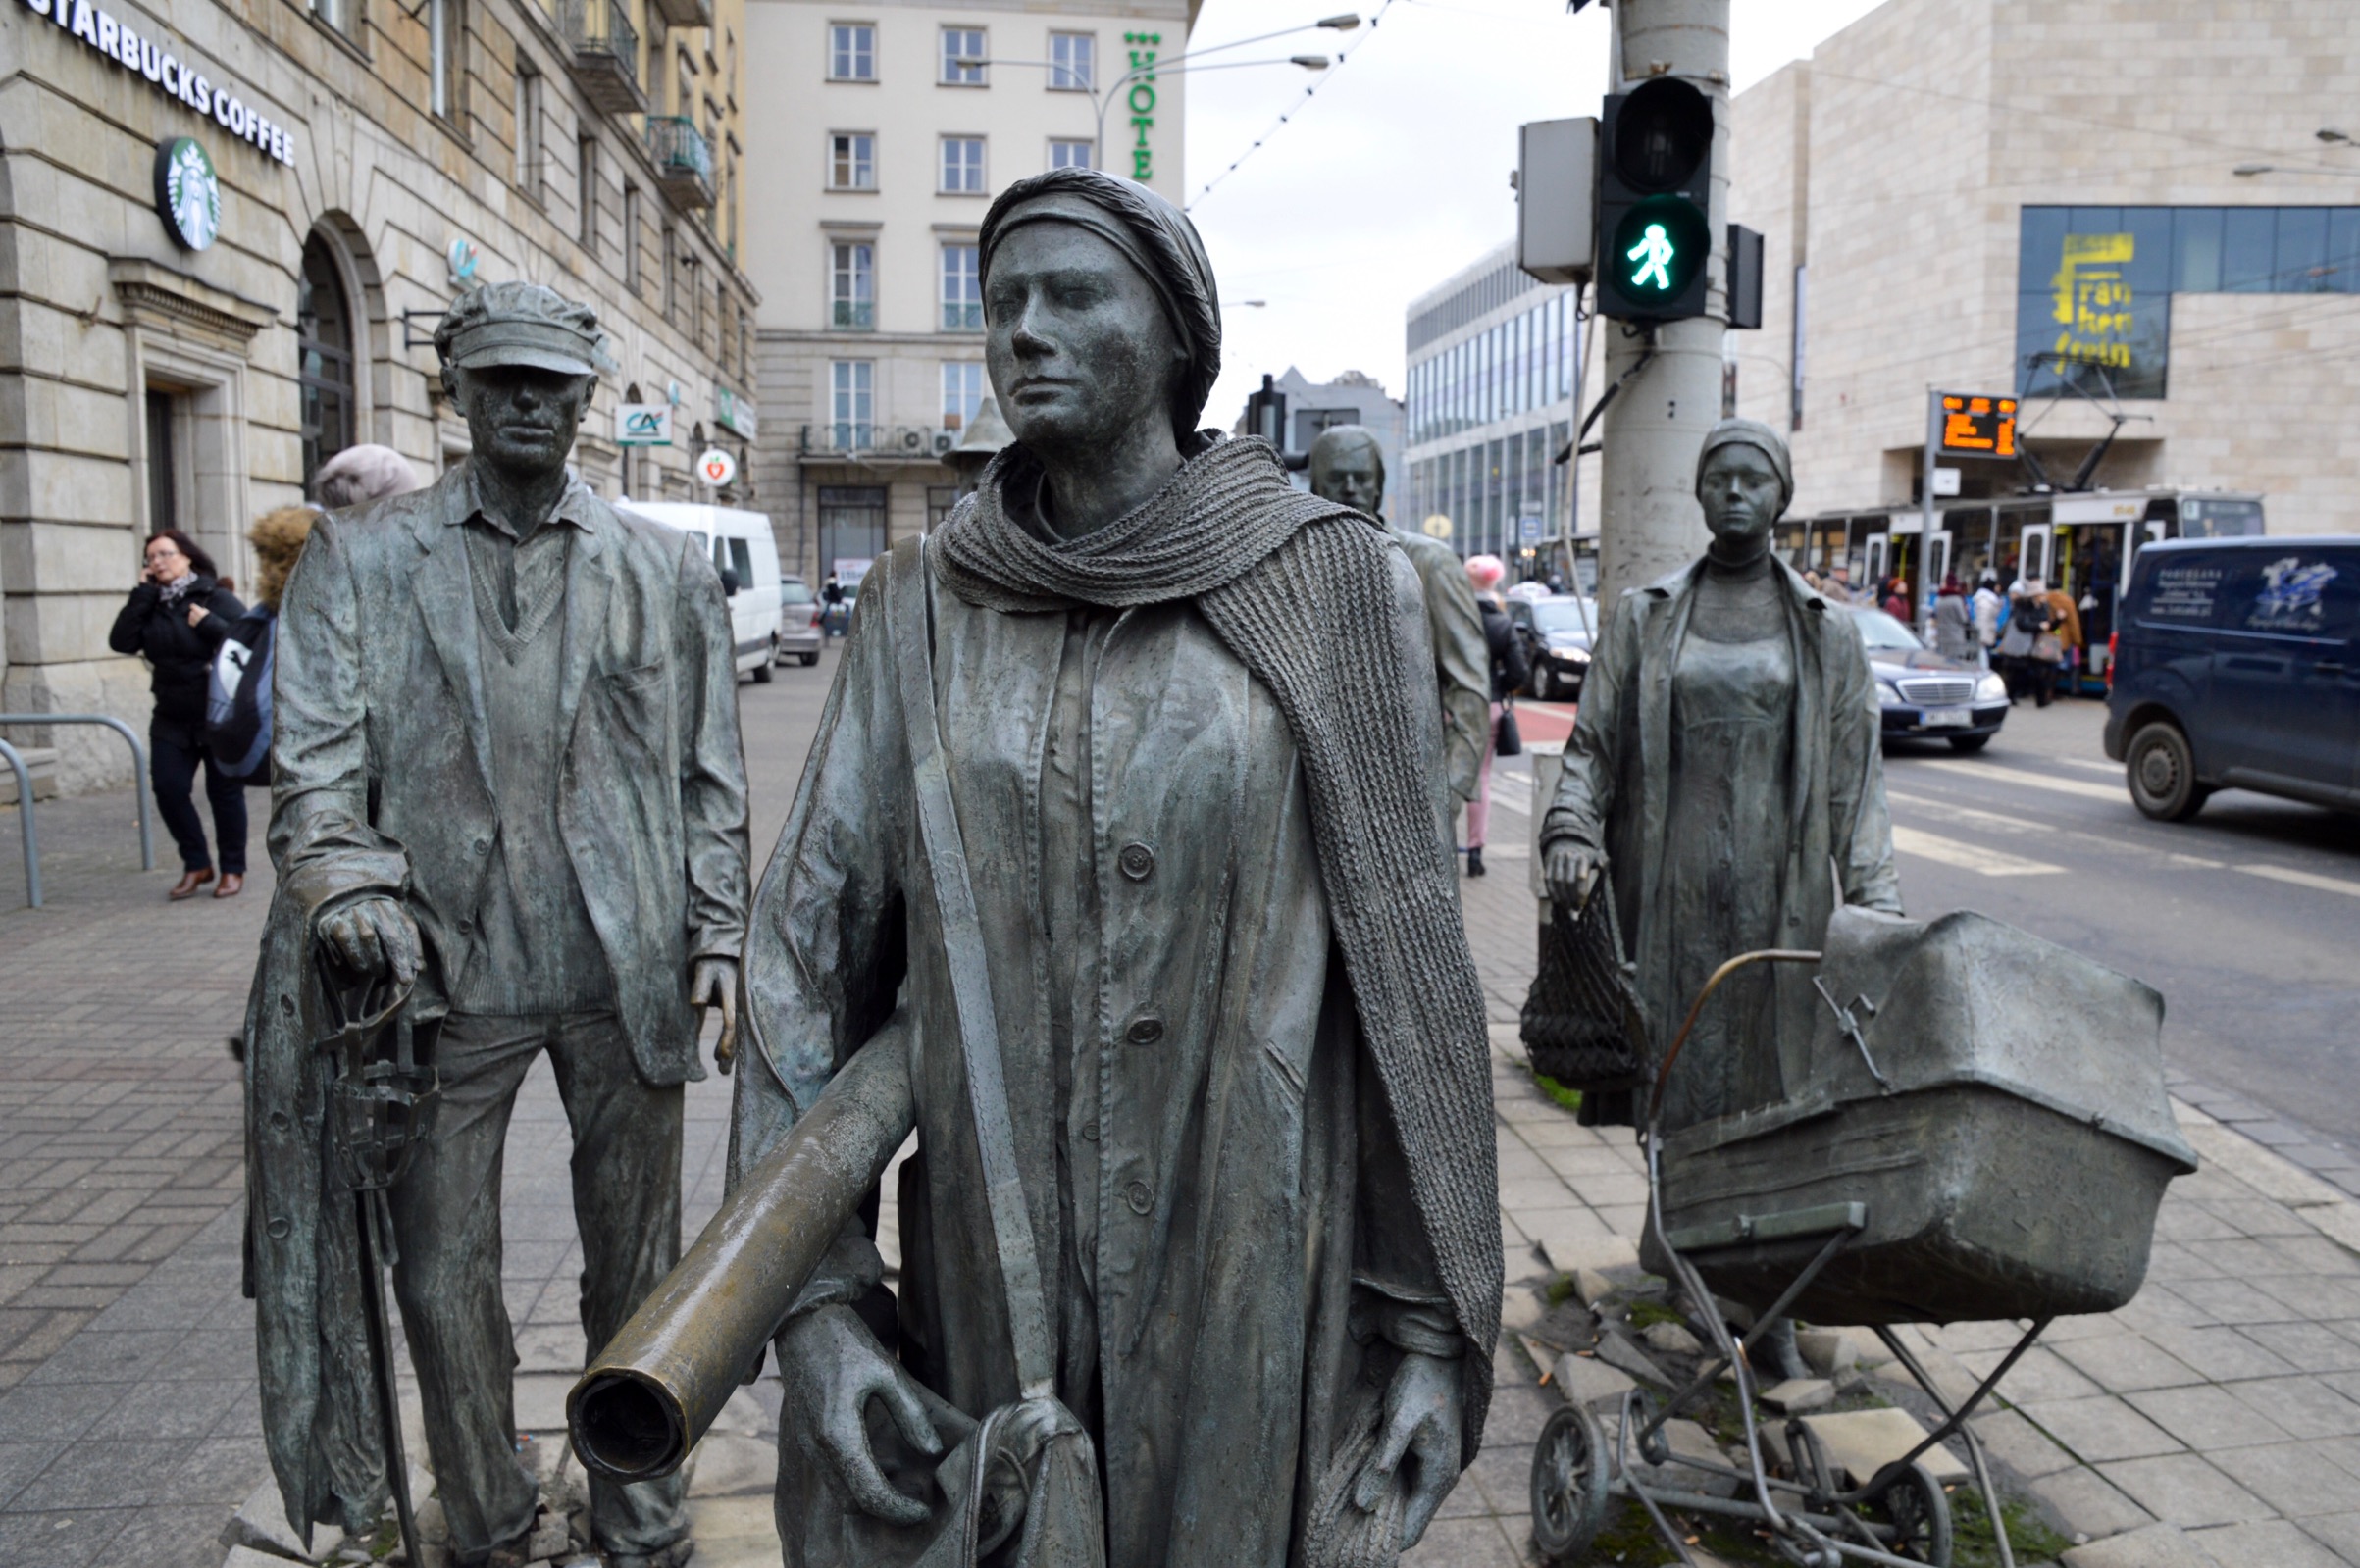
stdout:
[[(866, 580), (746, 953), (734, 1174), (864, 1052), (906, 1054), (918, 1129), (894, 1290), (854, 1221), (776, 1339), (786, 1561), (916, 1561), (927, 1464), (1038, 1398), (1017, 1294), (1095, 1445), (1093, 1556), (1392, 1561), (1475, 1455), (1501, 1290), (1418, 580), (1197, 429), (1218, 295), (1166, 200), (1017, 182), (982, 269), (1015, 443)], [(972, 877), (1022, 1292), (913, 757)]]

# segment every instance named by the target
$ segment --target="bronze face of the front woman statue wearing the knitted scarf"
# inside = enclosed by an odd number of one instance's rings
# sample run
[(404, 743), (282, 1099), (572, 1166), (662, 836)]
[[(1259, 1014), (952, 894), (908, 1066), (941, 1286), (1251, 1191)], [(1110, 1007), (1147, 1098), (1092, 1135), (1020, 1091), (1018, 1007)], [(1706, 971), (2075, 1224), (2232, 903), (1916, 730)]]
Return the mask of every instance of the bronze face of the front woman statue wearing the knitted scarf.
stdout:
[(1076, 224), (1015, 229), (991, 255), (984, 361), (1017, 441), (1043, 460), (1171, 422), (1185, 365), (1156, 290)]

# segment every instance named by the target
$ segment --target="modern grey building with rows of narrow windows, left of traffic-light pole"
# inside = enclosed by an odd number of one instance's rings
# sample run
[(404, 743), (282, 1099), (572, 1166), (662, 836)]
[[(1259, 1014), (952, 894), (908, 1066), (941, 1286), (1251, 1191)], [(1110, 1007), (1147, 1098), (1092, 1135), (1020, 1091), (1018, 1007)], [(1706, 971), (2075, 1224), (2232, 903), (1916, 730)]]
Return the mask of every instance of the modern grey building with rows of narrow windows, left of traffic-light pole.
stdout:
[(1543, 571), (1543, 540), (1576, 521), (1574, 465), (1555, 457), (1574, 431), (1579, 337), (1574, 290), (1529, 278), (1513, 243), (1411, 302), (1404, 526), (1513, 575)]

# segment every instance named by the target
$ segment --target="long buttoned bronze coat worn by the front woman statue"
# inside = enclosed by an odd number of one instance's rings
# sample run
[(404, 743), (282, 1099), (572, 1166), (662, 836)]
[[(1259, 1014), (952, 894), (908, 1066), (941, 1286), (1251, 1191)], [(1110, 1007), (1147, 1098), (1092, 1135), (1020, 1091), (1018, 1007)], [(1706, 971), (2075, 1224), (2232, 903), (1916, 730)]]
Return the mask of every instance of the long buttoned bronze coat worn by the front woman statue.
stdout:
[[(880, 561), (750, 922), (748, 1063), (732, 1162), (748, 1170), (852, 1052), (909, 1040), (920, 1160), (902, 1184), (904, 1363), (968, 1415), (1015, 1398), (939, 936), (916, 891), (911, 764), (885, 637)], [(1041, 938), (1043, 738), (1062, 613), (998, 613), (935, 589), (944, 755), (982, 915), (1017, 1165), (1036, 1236), (1057, 1236), (1053, 981)], [(1416, 575), (1395, 554), (1385, 667), (1430, 672)], [(1333, 962), (1303, 762), (1270, 693), (1187, 601), (1123, 611), (1088, 689), (1088, 967), (1097, 1073), (1100, 1469), (1112, 1563), (1284, 1568), (1357, 1379), (1390, 1351), (1348, 1318), (1376, 1294), (1449, 1309), (1409, 1195), (1409, 1160)], [(1428, 707), (1425, 712), (1433, 712)], [(1440, 766), (1428, 722), (1425, 769)], [(1145, 854), (1142, 854), (1145, 851)], [(904, 988), (904, 979), (909, 986)], [(880, 1023), (906, 1002), (913, 1028)], [(1159, 1033), (1133, 1026), (1156, 1019)], [(1076, 1073), (1093, 1070), (1076, 1066)], [(1071, 1125), (1074, 1137), (1088, 1137)], [(1449, 1160), (1454, 1151), (1425, 1151)], [(1458, 1160), (1466, 1162), (1463, 1151)], [(1069, 1233), (1069, 1231), (1067, 1231)], [(1043, 1276), (1057, 1320), (1055, 1257)], [(847, 1233), (805, 1302), (878, 1278)], [(1487, 1344), (1468, 1351), (1480, 1431)], [(1071, 1361), (1069, 1351), (1062, 1356)], [(1086, 1389), (1060, 1386), (1076, 1410)], [(890, 1443), (873, 1419), (871, 1431)], [(847, 1518), (781, 1450), (779, 1526), (795, 1568), (909, 1561), (909, 1533)]]

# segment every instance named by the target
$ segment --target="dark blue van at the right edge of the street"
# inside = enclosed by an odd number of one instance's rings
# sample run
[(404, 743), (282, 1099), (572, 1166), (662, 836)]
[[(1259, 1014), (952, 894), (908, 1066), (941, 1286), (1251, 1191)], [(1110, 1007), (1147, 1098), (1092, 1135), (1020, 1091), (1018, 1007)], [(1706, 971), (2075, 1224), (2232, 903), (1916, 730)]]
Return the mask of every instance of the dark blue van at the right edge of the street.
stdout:
[(2152, 818), (2225, 788), (2360, 809), (2360, 538), (2148, 545), (2105, 707)]

